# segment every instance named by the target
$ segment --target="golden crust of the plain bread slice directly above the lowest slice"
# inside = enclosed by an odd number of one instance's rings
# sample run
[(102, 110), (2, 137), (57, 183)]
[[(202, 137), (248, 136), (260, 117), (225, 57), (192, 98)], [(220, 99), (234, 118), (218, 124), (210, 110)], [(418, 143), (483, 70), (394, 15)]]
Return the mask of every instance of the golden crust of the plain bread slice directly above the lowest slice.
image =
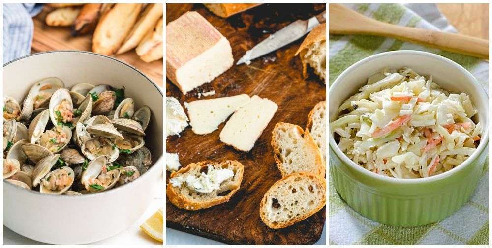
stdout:
[(277, 163), (277, 167), (278, 167), (278, 170), (280, 170), (280, 173), (282, 174), (282, 177), (286, 177), (289, 175), (289, 173), (287, 171), (285, 171), (283, 169), (283, 166), (282, 166), (282, 161), (280, 160), (280, 156), (281, 156), (281, 152), (280, 152), (280, 145), (277, 143), (277, 140), (275, 138), (275, 132), (278, 128), (281, 128), (283, 126), (295, 126), (296, 129), (299, 131), (299, 133), (301, 134), (304, 134), (304, 139), (307, 141), (307, 144), (308, 144), (308, 147), (307, 149), (309, 149), (310, 152), (312, 152), (313, 154), (316, 155), (316, 171), (307, 171), (307, 173), (312, 173), (312, 174), (316, 174), (320, 177), (324, 177), (325, 176), (325, 170), (326, 170), (326, 165), (325, 165), (325, 162), (323, 160), (323, 155), (321, 155), (321, 152), (319, 151), (318, 149), (318, 146), (316, 145), (316, 142), (314, 141), (314, 139), (312, 138), (312, 136), (310, 135), (309, 132), (304, 132), (304, 130), (298, 126), (298, 125), (294, 125), (294, 124), (290, 124), (290, 123), (285, 123), (285, 122), (278, 122), (276, 125), (275, 125), (275, 128), (273, 129), (272, 131), (272, 148), (274, 150), (274, 158), (275, 158), (275, 162)]

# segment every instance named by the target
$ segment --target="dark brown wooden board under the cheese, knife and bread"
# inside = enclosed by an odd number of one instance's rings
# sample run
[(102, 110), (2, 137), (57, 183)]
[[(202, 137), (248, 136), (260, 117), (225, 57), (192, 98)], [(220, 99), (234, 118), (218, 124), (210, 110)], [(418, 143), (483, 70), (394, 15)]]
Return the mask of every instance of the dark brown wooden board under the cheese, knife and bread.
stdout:
[[(197, 11), (227, 37), (237, 61), (269, 33), (325, 9), (325, 4), (263, 4), (223, 19), (202, 4), (166, 4), (166, 22), (175, 20), (186, 11)], [(301, 60), (294, 56), (303, 39), (255, 59), (250, 65), (234, 65), (211, 83), (186, 95), (166, 78), (166, 96), (174, 96), (181, 104), (197, 100), (198, 92), (215, 90), (215, 95), (201, 99), (246, 93), (266, 97), (278, 105), (275, 116), (247, 153), (220, 142), (219, 134), (224, 123), (208, 135), (196, 135), (188, 127), (181, 137), (167, 138), (167, 152), (179, 153), (183, 166), (203, 160), (239, 160), (245, 165), (241, 188), (227, 203), (199, 211), (185, 211), (176, 208), (166, 198), (167, 227), (228, 244), (313, 244), (319, 240), (326, 220), (326, 207), (283, 229), (268, 228), (259, 216), (264, 193), (281, 178), (270, 144), (275, 124), (289, 122), (305, 128), (309, 111), (316, 103), (326, 100), (325, 84), (312, 70), (308, 70), (309, 76), (304, 79)], [(167, 172), (166, 182), (169, 175)]]

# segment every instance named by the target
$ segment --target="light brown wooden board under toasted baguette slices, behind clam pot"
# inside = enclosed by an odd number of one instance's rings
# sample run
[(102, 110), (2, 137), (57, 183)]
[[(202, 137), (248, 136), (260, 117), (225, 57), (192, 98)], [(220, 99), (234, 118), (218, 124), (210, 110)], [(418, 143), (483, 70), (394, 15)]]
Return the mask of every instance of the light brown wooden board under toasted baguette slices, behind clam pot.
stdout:
[[(33, 18), (34, 36), (32, 38), (31, 53), (53, 50), (82, 50), (92, 51), (92, 33), (80, 37), (70, 35), (70, 27), (50, 27), (44, 19), (51, 8), (45, 7), (41, 13)], [(162, 59), (150, 63), (142, 61), (135, 50), (121, 55), (113, 55), (147, 75), (154, 83), (162, 86)]]

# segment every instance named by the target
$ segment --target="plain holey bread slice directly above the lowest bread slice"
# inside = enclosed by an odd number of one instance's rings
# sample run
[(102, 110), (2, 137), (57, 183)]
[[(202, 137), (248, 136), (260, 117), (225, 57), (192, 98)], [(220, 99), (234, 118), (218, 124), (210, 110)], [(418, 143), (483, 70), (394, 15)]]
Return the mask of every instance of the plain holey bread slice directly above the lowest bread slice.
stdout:
[(308, 172), (325, 176), (325, 163), (314, 139), (294, 124), (279, 122), (272, 131), (275, 162), (286, 177), (292, 173)]

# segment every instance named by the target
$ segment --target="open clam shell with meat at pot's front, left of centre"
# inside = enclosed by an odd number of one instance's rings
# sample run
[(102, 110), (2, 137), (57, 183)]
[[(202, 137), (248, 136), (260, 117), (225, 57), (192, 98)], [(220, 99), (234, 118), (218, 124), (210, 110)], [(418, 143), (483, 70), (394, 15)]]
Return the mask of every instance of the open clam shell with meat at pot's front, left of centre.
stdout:
[(46, 194), (62, 194), (67, 191), (75, 180), (72, 168), (63, 166), (46, 174), (39, 184), (39, 192)]

